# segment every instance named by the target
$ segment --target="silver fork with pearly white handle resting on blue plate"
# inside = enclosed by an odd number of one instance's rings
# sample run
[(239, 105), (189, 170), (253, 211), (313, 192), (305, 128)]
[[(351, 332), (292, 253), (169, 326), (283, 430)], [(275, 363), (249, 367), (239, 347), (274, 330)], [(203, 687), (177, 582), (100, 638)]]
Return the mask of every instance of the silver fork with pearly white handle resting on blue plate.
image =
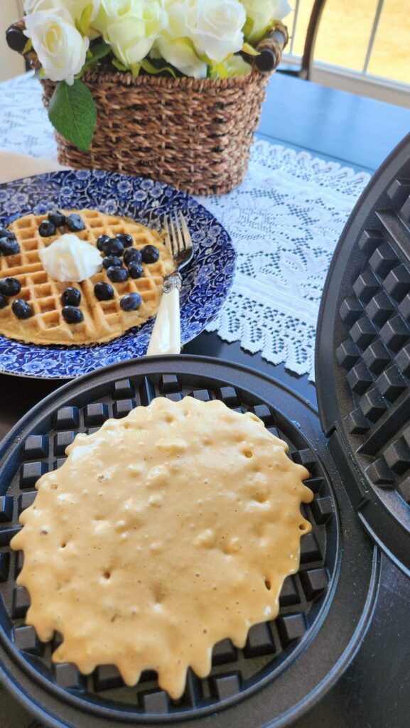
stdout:
[(146, 352), (149, 356), (181, 352), (180, 271), (189, 264), (194, 255), (191, 235), (181, 212), (179, 219), (177, 213), (168, 220), (164, 218), (164, 234), (165, 245), (176, 261), (176, 270), (164, 278), (162, 298)]

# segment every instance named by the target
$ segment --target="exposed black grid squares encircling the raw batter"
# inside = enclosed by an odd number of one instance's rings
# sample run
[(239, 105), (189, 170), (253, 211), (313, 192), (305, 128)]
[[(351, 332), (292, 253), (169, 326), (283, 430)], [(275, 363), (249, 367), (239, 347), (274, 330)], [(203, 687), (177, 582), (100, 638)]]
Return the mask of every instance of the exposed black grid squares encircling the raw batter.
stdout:
[[(133, 406), (148, 405), (156, 396), (170, 398), (197, 396), (201, 400), (221, 399), (224, 403), (229, 403), (228, 406), (232, 409), (240, 407), (243, 411), (252, 411), (261, 416), (269, 430), (275, 429), (288, 443), (293, 461), (304, 464), (310, 470), (310, 478), (306, 482), (315, 491), (312, 505), (320, 498), (331, 499), (326, 475), (304, 438), (302, 443), (300, 431), (297, 430), (296, 433), (296, 427), (288, 421), (284, 422), (283, 416), (277, 419), (275, 411), (253, 395), (252, 400), (245, 401), (243, 392), (234, 387), (213, 386), (210, 382), (205, 387), (203, 382), (200, 386), (194, 387), (192, 379), (186, 382), (183, 377), (174, 375), (158, 376), (155, 381), (146, 377), (123, 379), (107, 384), (108, 387), (109, 391), (99, 392), (99, 399), (94, 402), (86, 405), (73, 402), (57, 411), (50, 424), (50, 427), (55, 429), (47, 433), (47, 438), (44, 438), (45, 433), (34, 438), (31, 436), (29, 447), (26, 451), (23, 449), (25, 455), (20, 471), (28, 464), (34, 466), (37, 472), (40, 468), (52, 470), (57, 462), (61, 464), (61, 457), (58, 458), (55, 453), (55, 445), (61, 440), (61, 435), (65, 436), (63, 440), (71, 439), (76, 432), (90, 430), (90, 427), (95, 430), (95, 427), (100, 426), (107, 417), (125, 416)], [(42, 449), (42, 456), (34, 454), (40, 452), (39, 448)], [(58, 449), (60, 451), (60, 448)], [(15, 499), (14, 520), (8, 524), (11, 529), (17, 524), (19, 506), (21, 510), (23, 503), (22, 500), (20, 502), (18, 500), (22, 497), (19, 485), (20, 472), (17, 472), (7, 493)], [(27, 505), (35, 496), (33, 483), (31, 488), (31, 491), (23, 491), (24, 502)], [(4, 598), (4, 604), (12, 620), (13, 635), (17, 634), (17, 640), (13, 637), (15, 644), (20, 647), (24, 659), (31, 662), (31, 665), (36, 666), (39, 665), (39, 661), (41, 662), (41, 673), (51, 684), (78, 692), (83, 696), (82, 700), (88, 697), (101, 705), (114, 705), (117, 708), (125, 705), (127, 710), (132, 709), (136, 715), (142, 715), (147, 719), (155, 714), (181, 715), (206, 705), (217, 707), (219, 701), (229, 696), (237, 695), (239, 698), (245, 689), (276, 670), (298, 646), (315, 620), (326, 596), (328, 581), (334, 568), (328, 547), (328, 539), (333, 542), (336, 537), (336, 532), (332, 530), (336, 527), (332, 518), (333, 510), (326, 523), (319, 523), (315, 519), (310, 505), (307, 505), (304, 515), (312, 523), (312, 532), (301, 537), (300, 570), (298, 574), (285, 579), (280, 595), (278, 619), (255, 625), (248, 635), (244, 649), (235, 648), (227, 639), (218, 643), (213, 652), (213, 670), (210, 676), (200, 679), (189, 670), (186, 690), (178, 701), (170, 700), (166, 693), (159, 689), (157, 676), (152, 671), (143, 673), (138, 684), (129, 688), (125, 687), (117, 669), (109, 665), (101, 666), (91, 676), (85, 677), (81, 676), (73, 665), (64, 663), (53, 667), (51, 653), (55, 649), (55, 644), (38, 644), (33, 628), (25, 626), (24, 615), (29, 605), (28, 593), (23, 587), (15, 585), (15, 575), (23, 565), (23, 554), (11, 552), (7, 545), (0, 547), (0, 553), (3, 551), (9, 558), (7, 580), (4, 582), (6, 589), (3, 591), (0, 585), (0, 595)], [(20, 633), (21, 629), (25, 632)], [(56, 636), (58, 637), (57, 633)]]

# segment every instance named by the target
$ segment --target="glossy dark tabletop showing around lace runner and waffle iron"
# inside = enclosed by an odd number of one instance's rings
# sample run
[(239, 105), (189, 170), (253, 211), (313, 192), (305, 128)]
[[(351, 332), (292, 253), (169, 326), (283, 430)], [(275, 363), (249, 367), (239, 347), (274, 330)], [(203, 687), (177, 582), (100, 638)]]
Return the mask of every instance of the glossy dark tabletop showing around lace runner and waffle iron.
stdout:
[[(259, 135), (272, 143), (304, 149), (357, 170), (374, 172), (410, 131), (410, 109), (276, 74), (269, 85)], [(1, 140), (0, 140), (1, 148)], [(184, 352), (219, 357), (269, 374), (316, 403), (315, 387), (202, 333)], [(0, 438), (31, 406), (59, 387), (0, 375)], [(410, 725), (410, 582), (382, 556), (382, 584), (373, 620), (358, 655), (336, 686), (294, 728), (407, 728)], [(0, 728), (26, 728), (31, 720), (14, 700), (0, 694)], [(227, 727), (229, 728), (229, 727)], [(251, 726), (249, 728), (252, 728)]]

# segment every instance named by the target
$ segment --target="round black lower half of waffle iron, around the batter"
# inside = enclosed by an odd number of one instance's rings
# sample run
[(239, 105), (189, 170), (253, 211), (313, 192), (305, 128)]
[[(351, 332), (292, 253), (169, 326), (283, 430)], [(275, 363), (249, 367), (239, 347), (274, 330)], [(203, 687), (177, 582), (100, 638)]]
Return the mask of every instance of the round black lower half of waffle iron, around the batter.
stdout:
[[(77, 432), (125, 416), (153, 397), (218, 398), (253, 411), (310, 471), (315, 492), (304, 515), (299, 573), (288, 577), (280, 614), (256, 625), (244, 649), (216, 645), (213, 670), (189, 673), (181, 700), (167, 697), (155, 673), (125, 687), (115, 668), (82, 676), (74, 665), (52, 665), (54, 644), (25, 625), (29, 598), (15, 579), (20, 553), (9, 541), (18, 516), (35, 497), (34, 483), (62, 464)], [(31, 410), (3, 441), (0, 485), (0, 678), (37, 719), (52, 727), (114, 728), (172, 724), (256, 728), (291, 724), (330, 688), (366, 631), (379, 582), (379, 557), (360, 529), (311, 405), (277, 382), (205, 357), (151, 357), (113, 365), (58, 389)], [(1, 675), (3, 670), (3, 675)]]

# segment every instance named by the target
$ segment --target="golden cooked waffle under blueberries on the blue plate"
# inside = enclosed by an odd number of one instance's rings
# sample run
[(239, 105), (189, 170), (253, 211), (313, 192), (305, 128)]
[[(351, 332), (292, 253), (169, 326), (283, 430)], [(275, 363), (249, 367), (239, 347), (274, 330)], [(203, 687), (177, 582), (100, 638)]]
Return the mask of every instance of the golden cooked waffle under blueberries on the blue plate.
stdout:
[[(81, 283), (52, 280), (44, 271), (39, 250), (47, 248), (67, 232), (66, 228), (58, 230), (52, 237), (44, 238), (39, 234), (39, 224), (47, 219), (47, 215), (25, 215), (9, 226), (20, 243), (20, 253), (0, 258), (0, 277), (10, 276), (20, 281), (21, 291), (9, 298), (9, 304), (14, 298), (23, 298), (31, 304), (33, 316), (20, 320), (10, 305), (0, 309), (0, 333), (4, 336), (31, 344), (99, 344), (115, 339), (133, 326), (140, 326), (156, 314), (162, 295), (162, 280), (175, 267), (161, 235), (141, 223), (106, 215), (98, 210), (70, 212), (81, 215), (85, 229), (76, 234), (90, 245), (95, 245), (100, 235), (115, 237), (117, 233), (125, 232), (132, 235), (135, 248), (155, 245), (159, 250), (159, 260), (154, 264), (143, 265), (143, 277), (135, 280), (129, 278), (123, 283), (111, 282), (105, 269)], [(108, 282), (114, 288), (111, 301), (98, 301), (95, 298), (94, 286), (100, 281)], [(84, 315), (81, 323), (69, 324), (61, 314), (61, 294), (68, 285), (74, 285), (81, 291), (79, 309)], [(127, 312), (119, 306), (120, 299), (126, 293), (140, 294), (142, 303), (138, 310)]]

